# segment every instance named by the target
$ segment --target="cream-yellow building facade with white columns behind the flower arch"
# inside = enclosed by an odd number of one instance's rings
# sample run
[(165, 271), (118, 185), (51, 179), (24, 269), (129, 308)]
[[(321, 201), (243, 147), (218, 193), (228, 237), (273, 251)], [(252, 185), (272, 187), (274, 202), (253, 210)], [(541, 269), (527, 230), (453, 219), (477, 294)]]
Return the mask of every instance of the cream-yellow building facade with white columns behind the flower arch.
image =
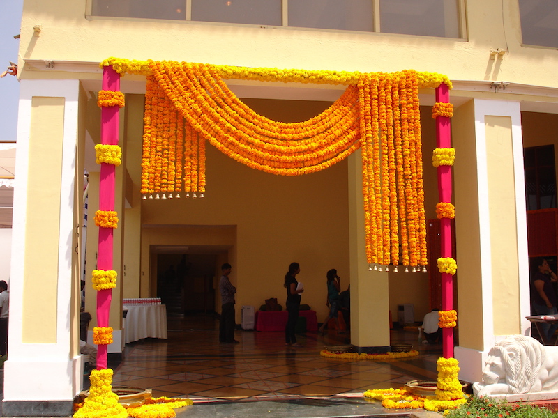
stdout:
[[(144, 3), (149, 3), (147, 6)], [(67, 415), (80, 391), (80, 279), (96, 265), (97, 232), (84, 228), (98, 205), (94, 144), (100, 137), (100, 61), (110, 56), (251, 68), (438, 72), (451, 102), (460, 378), (481, 379), (483, 358), (507, 334), (528, 334), (529, 269), (524, 148), (553, 146), (558, 125), (558, 8), (550, 1), (25, 0), (18, 68), (10, 358), (6, 415)], [(343, 86), (227, 80), (252, 109), (303, 121)], [(145, 77), (125, 75), (123, 164), (116, 170), (110, 353), (123, 348), (121, 300), (157, 291), (158, 254), (168, 247), (234, 266), (237, 305), (282, 298), (282, 277), (301, 263), (305, 302), (326, 316), (325, 275), (352, 288), (352, 343), (389, 346), (389, 311), (430, 311), (428, 273), (370, 271), (365, 260), (358, 153), (297, 178), (252, 171), (211, 147), (203, 199), (144, 200), (140, 194)], [(435, 218), (435, 148), (420, 91), (425, 206)], [(552, 148), (554, 150), (554, 148)], [(552, 153), (552, 151), (550, 151)], [(552, 155), (554, 157), (554, 155)], [(554, 170), (555, 176), (555, 170)], [(528, 193), (529, 194), (529, 193)], [(556, 199), (555, 199), (556, 200)], [(86, 240), (84, 240), (86, 235)], [(271, 250), (270, 250), (271, 248)], [(184, 250), (186, 251), (186, 250)], [(86, 293), (93, 312), (94, 293)], [(215, 298), (213, 304), (219, 305)], [(93, 323), (95, 318), (93, 318)], [(68, 409), (69, 408), (69, 409)]]

